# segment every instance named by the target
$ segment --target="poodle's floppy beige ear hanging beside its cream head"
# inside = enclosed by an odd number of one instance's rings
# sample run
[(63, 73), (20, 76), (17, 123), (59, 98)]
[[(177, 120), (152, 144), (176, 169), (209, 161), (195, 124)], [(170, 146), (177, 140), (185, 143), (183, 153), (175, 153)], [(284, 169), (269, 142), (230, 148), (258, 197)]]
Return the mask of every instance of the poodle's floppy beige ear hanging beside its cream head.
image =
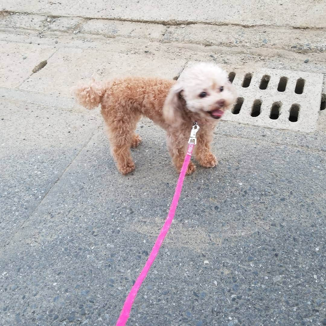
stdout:
[(170, 125), (182, 123), (182, 111), (185, 100), (182, 98), (181, 83), (174, 84), (163, 105), (163, 118)]

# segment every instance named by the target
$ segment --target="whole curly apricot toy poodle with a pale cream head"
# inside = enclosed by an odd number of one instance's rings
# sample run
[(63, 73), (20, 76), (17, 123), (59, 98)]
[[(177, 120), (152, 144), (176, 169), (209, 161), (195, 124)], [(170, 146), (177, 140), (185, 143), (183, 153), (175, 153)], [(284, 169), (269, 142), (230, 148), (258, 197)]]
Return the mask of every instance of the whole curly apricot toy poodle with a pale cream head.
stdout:
[[(197, 121), (200, 130), (195, 159), (203, 167), (214, 167), (217, 159), (210, 148), (214, 127), (236, 99), (227, 72), (204, 62), (185, 68), (176, 82), (138, 77), (107, 82), (93, 79), (76, 86), (73, 93), (89, 110), (101, 104), (111, 153), (122, 174), (135, 169), (130, 147), (141, 142), (135, 129), (142, 115), (166, 130), (167, 147), (178, 171), (185, 158), (191, 127)], [(190, 162), (187, 174), (194, 170), (195, 165)]]

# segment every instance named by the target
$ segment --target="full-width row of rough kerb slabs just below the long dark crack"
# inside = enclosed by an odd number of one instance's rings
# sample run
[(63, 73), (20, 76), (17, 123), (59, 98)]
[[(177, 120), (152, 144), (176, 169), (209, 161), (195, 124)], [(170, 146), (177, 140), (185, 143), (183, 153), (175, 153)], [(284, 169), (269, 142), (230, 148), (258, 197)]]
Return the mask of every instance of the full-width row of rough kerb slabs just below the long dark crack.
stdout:
[[(38, 31), (42, 38), (53, 32), (102, 35), (104, 37), (142, 38), (226, 46), (236, 48), (286, 49), (292, 52), (324, 52), (323, 29), (293, 29), (288, 33), (285, 27), (238, 25), (211, 25), (203, 23), (178, 26), (159, 23), (126, 22), (108, 19), (82, 19), (78, 17), (48, 17), (33, 14), (0, 15), (0, 30), (12, 33), (31, 34)], [(87, 36), (89, 37), (89, 36)]]

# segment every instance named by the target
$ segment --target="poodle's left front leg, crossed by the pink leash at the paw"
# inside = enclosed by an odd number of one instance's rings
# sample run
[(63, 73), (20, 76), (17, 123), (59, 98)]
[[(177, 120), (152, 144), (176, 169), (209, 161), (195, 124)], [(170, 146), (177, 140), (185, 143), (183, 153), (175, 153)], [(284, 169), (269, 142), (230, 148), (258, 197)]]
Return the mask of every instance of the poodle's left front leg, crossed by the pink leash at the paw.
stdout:
[[(185, 159), (188, 139), (189, 136), (187, 137), (186, 135), (179, 135), (177, 133), (167, 134), (167, 147), (172, 158), (172, 163), (178, 172), (180, 172)], [(191, 174), (195, 170), (196, 166), (192, 162), (189, 162), (186, 174)]]

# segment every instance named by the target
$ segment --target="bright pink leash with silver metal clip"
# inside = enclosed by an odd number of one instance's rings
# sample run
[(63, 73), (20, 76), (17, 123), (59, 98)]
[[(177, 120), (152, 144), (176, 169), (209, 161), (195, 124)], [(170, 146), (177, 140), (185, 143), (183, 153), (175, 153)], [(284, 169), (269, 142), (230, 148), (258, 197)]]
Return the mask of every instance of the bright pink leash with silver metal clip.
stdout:
[(153, 249), (152, 249), (152, 251), (151, 251), (151, 253), (150, 253), (150, 255), (149, 255), (149, 257), (148, 257), (148, 259), (146, 261), (146, 264), (145, 264), (144, 268), (141, 271), (141, 274), (139, 274), (135, 284), (131, 288), (131, 291), (129, 292), (129, 294), (128, 294), (127, 298), (126, 298), (126, 301), (125, 301), (125, 303), (123, 305), (123, 308), (121, 310), (121, 313), (120, 313), (119, 319), (118, 319), (118, 321), (116, 323), (116, 326), (124, 326), (124, 325), (126, 325), (126, 322), (127, 322), (128, 318), (129, 318), (130, 310), (132, 308), (132, 305), (134, 303), (134, 300), (135, 300), (135, 297), (136, 297), (136, 295), (138, 293), (138, 290), (140, 289), (142, 282), (144, 281), (145, 277), (147, 276), (147, 273), (148, 273), (149, 269), (151, 268), (157, 254), (158, 254), (158, 251), (159, 251), (159, 249), (161, 247), (161, 244), (163, 243), (163, 241), (165, 239), (165, 236), (166, 236), (166, 234), (168, 233), (168, 231), (170, 229), (170, 226), (171, 226), (174, 214), (175, 214), (175, 210), (177, 208), (178, 201), (179, 201), (179, 198), (180, 198), (182, 185), (183, 185), (183, 182), (184, 182), (184, 179), (185, 179), (185, 173), (187, 171), (187, 168), (188, 168), (188, 165), (189, 165), (189, 162), (190, 162), (192, 151), (193, 151), (194, 146), (196, 145), (196, 142), (197, 142), (196, 141), (196, 133), (197, 133), (198, 130), (199, 130), (199, 126), (195, 122), (194, 125), (192, 126), (192, 129), (191, 129), (191, 134), (190, 134), (190, 138), (189, 138), (189, 141), (188, 141), (189, 145), (188, 145), (187, 154), (185, 156), (185, 160), (184, 160), (184, 163), (183, 163), (181, 171), (180, 171), (178, 183), (177, 183), (177, 186), (175, 188), (175, 192), (174, 192), (174, 196), (173, 196), (172, 203), (171, 203), (171, 206), (170, 206), (168, 217), (165, 220), (165, 223), (164, 223), (164, 225), (163, 225), (163, 227), (161, 229), (160, 234), (158, 235), (158, 237), (156, 239), (154, 247), (153, 247)]

